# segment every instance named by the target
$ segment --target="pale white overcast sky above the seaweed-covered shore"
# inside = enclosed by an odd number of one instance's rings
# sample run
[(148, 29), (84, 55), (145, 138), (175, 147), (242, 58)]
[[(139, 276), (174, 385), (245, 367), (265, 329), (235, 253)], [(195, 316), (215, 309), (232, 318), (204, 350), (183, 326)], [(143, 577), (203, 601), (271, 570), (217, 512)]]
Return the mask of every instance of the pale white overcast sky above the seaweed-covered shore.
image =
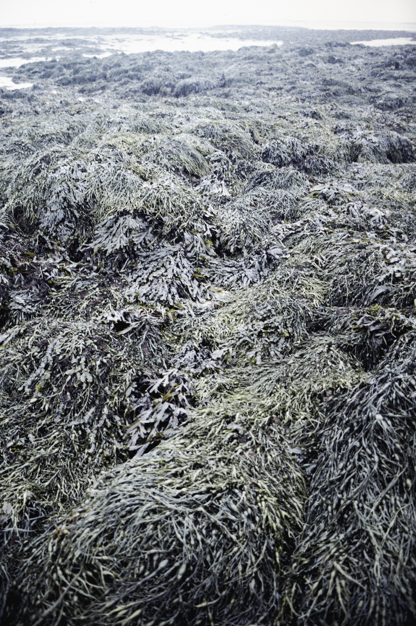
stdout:
[(416, 0), (0, 0), (0, 24), (203, 27), (416, 22)]

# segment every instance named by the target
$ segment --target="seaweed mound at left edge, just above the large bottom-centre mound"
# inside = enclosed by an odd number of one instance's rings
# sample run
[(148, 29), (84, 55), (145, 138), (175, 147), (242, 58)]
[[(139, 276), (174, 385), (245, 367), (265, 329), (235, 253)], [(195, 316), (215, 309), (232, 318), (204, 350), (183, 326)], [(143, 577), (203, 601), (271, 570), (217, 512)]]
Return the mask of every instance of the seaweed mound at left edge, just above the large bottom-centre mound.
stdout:
[(31, 320), (2, 336), (1, 543), (78, 501), (103, 469), (186, 416), (189, 377), (157, 362), (163, 320), (143, 310), (112, 317)]

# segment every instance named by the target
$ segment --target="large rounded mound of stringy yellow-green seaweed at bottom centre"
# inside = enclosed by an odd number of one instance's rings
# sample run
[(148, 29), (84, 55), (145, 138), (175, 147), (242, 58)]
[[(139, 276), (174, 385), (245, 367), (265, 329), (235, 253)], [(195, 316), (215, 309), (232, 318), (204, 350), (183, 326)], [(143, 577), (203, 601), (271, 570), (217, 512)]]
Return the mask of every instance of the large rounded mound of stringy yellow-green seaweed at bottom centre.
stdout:
[(20, 546), (18, 595), (33, 601), (16, 623), (274, 623), (305, 497), (279, 431), (206, 412), (119, 466)]

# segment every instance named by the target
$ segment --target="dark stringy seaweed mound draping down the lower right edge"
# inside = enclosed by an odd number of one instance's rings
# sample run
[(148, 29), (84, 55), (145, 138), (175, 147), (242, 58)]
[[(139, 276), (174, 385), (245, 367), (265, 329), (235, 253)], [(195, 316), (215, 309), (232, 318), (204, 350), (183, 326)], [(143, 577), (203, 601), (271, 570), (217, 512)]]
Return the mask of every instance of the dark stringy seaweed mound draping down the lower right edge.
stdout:
[(285, 592), (297, 623), (405, 623), (416, 612), (415, 354), (412, 331), (328, 400)]

